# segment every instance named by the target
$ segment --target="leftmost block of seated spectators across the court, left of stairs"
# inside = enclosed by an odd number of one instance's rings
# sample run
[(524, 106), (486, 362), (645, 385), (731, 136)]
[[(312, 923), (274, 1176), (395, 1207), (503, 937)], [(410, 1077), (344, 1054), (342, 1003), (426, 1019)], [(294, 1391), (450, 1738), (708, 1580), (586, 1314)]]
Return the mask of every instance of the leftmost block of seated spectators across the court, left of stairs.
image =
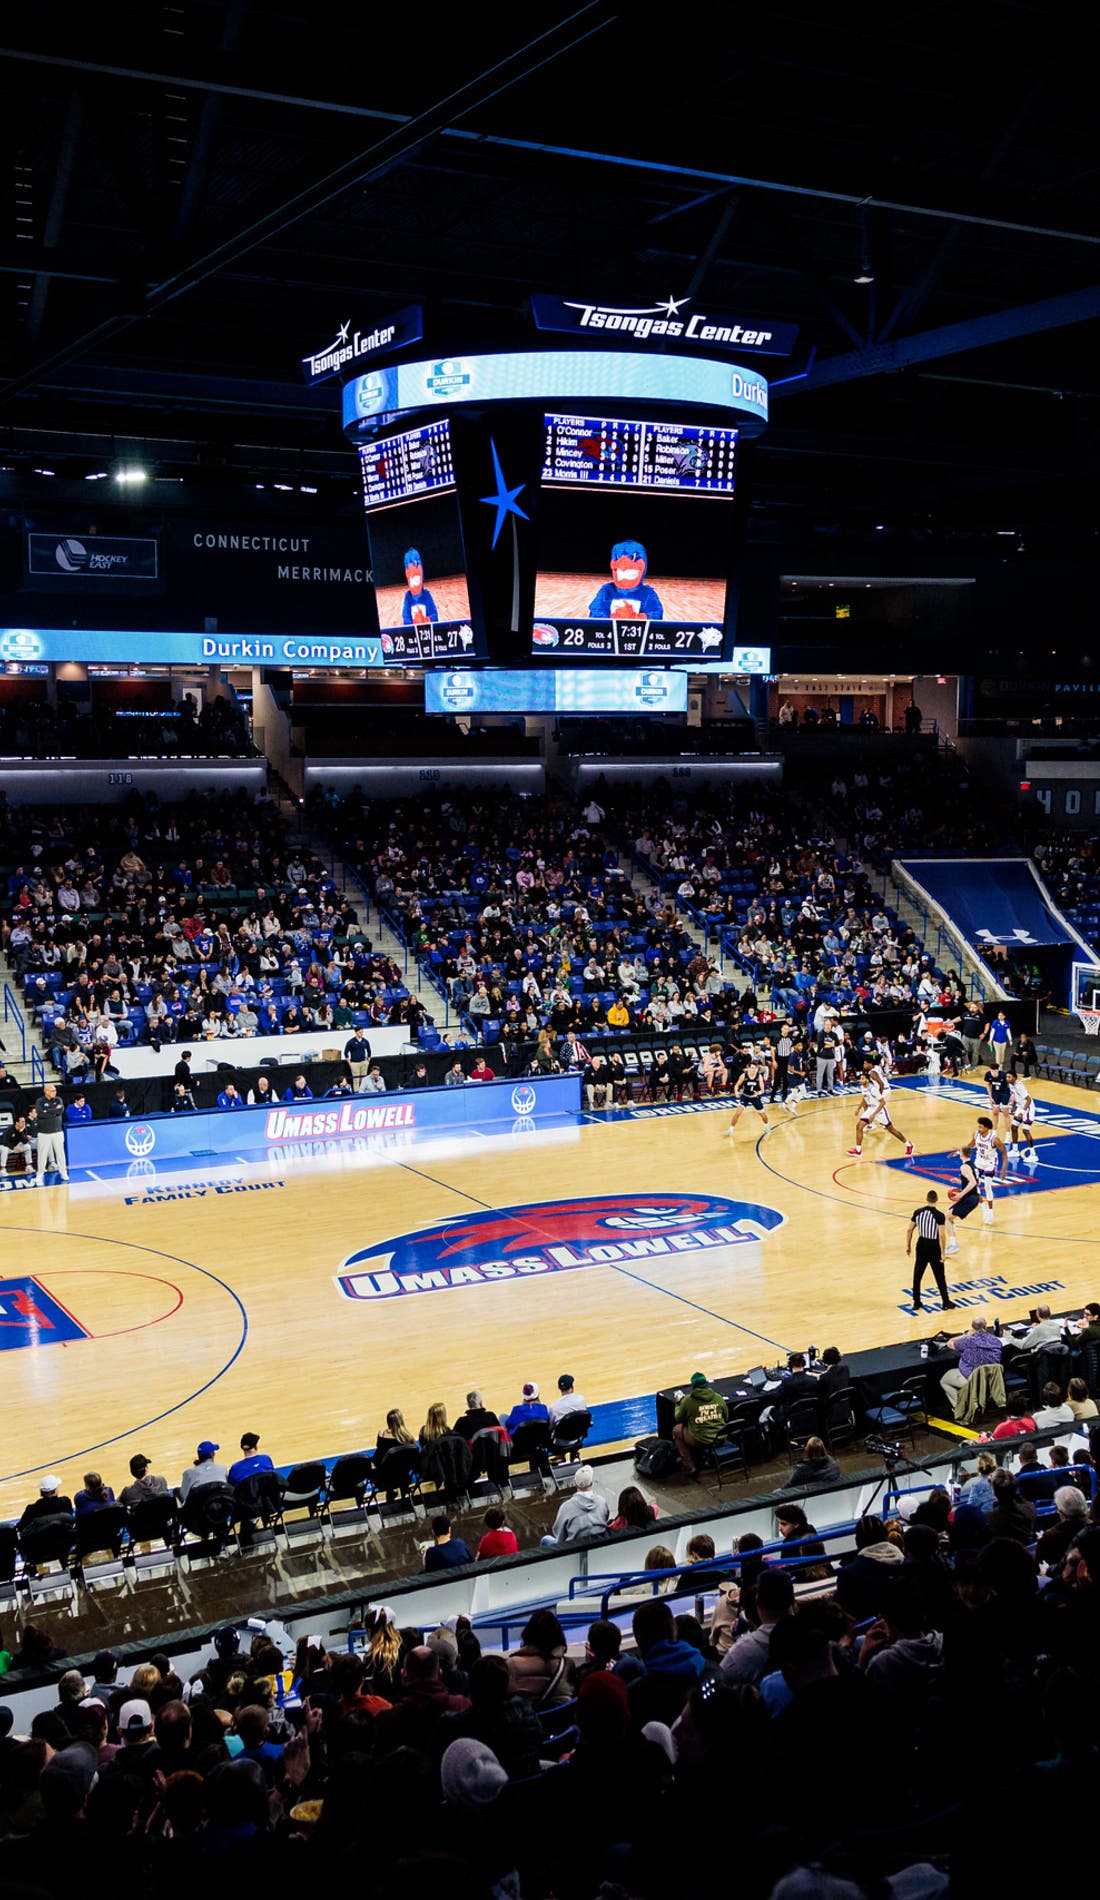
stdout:
[(0, 940), (65, 1079), (118, 1041), (201, 1043), (424, 1018), (397, 965), (268, 800), (0, 802)]

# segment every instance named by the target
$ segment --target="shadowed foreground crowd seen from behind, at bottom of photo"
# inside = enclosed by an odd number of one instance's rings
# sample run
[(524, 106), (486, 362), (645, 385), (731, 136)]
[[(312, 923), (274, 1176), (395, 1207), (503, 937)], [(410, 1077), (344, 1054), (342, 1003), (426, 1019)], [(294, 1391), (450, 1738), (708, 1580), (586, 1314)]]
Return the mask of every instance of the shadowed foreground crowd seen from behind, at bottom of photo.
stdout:
[[(655, 1543), (614, 1621), (570, 1642), (541, 1607), (507, 1653), (465, 1617), (420, 1624), (414, 1598), (403, 1626), (353, 1619), (348, 1649), (224, 1628), (186, 1676), (165, 1653), (76, 1670), (25, 1624), (11, 1689), (53, 1676), (57, 1700), (0, 1710), (4, 1877), (59, 1900), (103, 1864), (169, 1900), (351, 1875), (384, 1900), (657, 1900), (724, 1803), (750, 1900), (1020, 1890), (1039, 1835), (977, 1828), (944, 1746), (975, 1723), (1011, 1740), (1007, 1814), (1075, 1814), (1096, 1788), (1100, 1524), (1056, 1450), (1015, 1471), (982, 1452), (954, 1495), (859, 1518), (844, 1552), (802, 1503), (773, 1543), (697, 1537), (680, 1569)], [(1035, 1524), (1024, 1486), (1045, 1478)], [(509, 1554), (490, 1518), (477, 1554)], [(612, 1528), (652, 1526), (627, 1488)], [(427, 1568), (456, 1541), (439, 1516)]]

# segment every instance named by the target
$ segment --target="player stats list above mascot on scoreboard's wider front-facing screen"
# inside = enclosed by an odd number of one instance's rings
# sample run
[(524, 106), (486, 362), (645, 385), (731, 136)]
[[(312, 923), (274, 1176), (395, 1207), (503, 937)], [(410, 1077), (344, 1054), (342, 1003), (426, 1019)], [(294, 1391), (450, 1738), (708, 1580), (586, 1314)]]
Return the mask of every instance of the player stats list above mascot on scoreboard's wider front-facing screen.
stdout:
[(574, 488), (733, 494), (737, 429), (693, 422), (547, 416), (541, 479)]

